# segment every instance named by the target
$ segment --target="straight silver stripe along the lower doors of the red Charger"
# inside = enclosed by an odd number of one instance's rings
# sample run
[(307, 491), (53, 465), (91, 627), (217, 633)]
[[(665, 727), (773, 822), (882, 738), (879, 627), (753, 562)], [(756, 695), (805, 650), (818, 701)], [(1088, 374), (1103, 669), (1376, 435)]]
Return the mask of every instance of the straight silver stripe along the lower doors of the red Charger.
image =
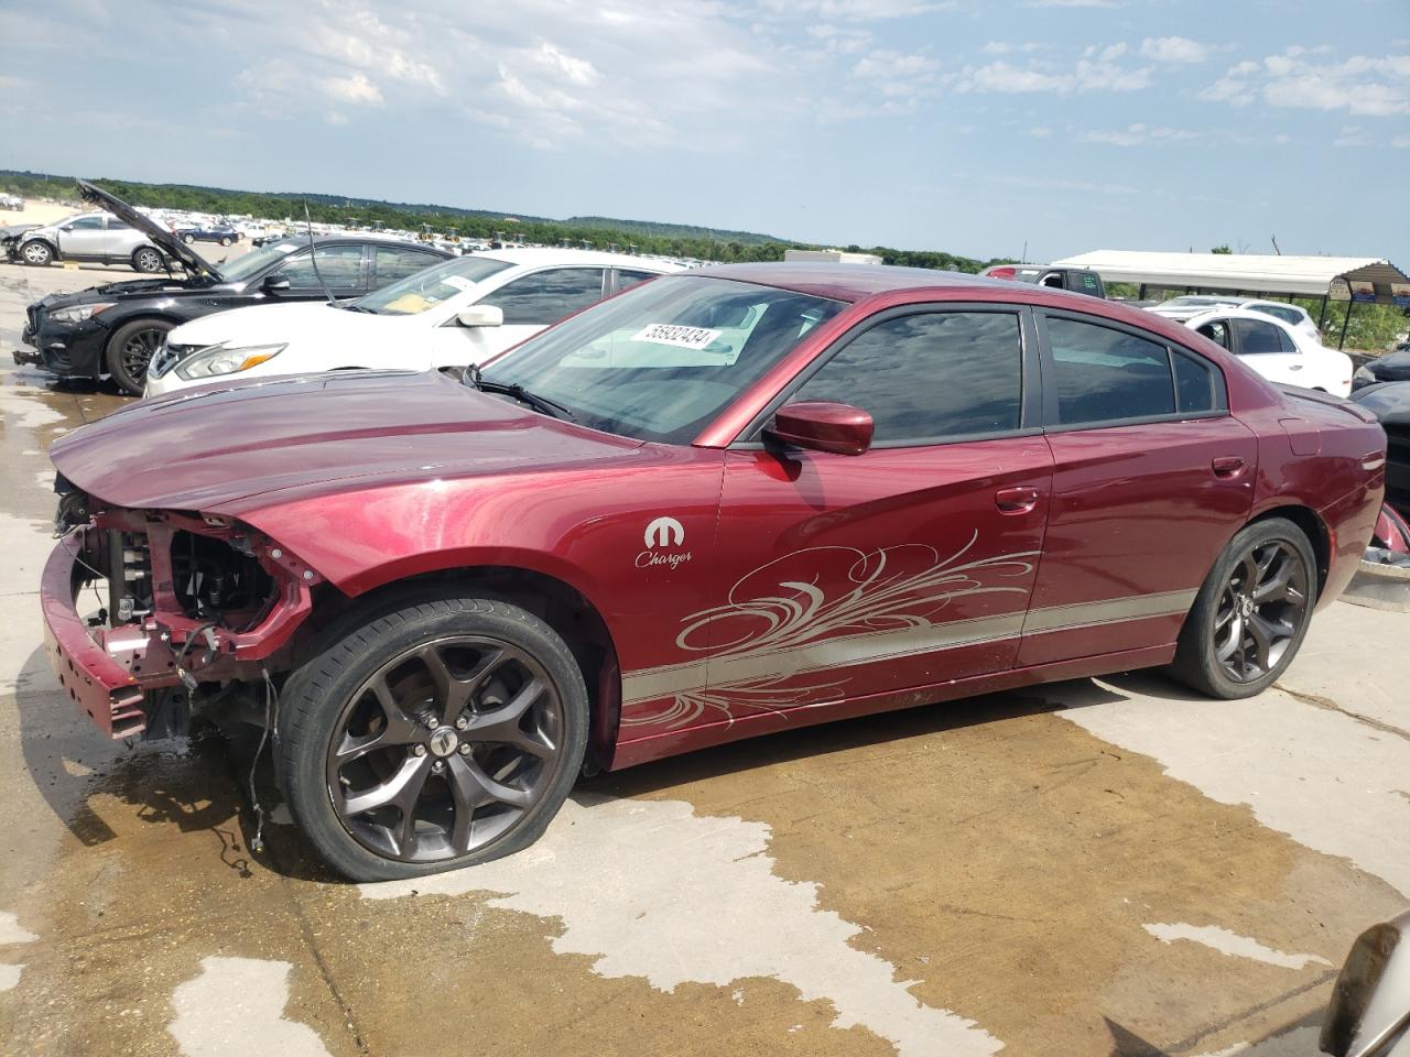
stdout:
[[(925, 627), (825, 638), (771, 653), (739, 657), (725, 654), (716, 657), (715, 661), (722, 669), (718, 675), (722, 675), (723, 681), (730, 685), (783, 681), (829, 668), (900, 660), (980, 643), (997, 643), (1015, 638), (1019, 634), (1048, 634), (1124, 620), (1179, 616), (1189, 612), (1196, 593), (1196, 591), (1167, 591), (1159, 595), (1132, 595), (1101, 602), (1048, 606), (1029, 610), (1026, 617), (1024, 613), (1005, 613), (973, 620), (948, 620)], [(706, 686), (705, 672), (705, 660), (623, 672), (622, 703), (627, 706), (673, 695), (699, 693)]]

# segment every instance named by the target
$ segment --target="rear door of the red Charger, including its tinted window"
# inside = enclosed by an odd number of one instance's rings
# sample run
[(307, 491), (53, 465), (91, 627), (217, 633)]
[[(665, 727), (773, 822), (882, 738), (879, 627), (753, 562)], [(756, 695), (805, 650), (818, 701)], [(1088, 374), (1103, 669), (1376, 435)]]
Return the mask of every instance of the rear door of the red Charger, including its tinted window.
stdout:
[(1248, 516), (1258, 441), (1203, 357), (1081, 313), (1038, 324), (1053, 492), (1018, 664), (1175, 643)]

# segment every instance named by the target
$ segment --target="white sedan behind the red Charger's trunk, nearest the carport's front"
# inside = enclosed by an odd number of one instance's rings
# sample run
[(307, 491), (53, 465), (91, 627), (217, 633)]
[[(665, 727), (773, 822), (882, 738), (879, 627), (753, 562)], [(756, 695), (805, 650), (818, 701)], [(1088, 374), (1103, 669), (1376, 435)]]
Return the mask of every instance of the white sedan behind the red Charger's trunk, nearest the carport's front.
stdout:
[(1214, 309), (1184, 326), (1222, 345), (1269, 382), (1351, 393), (1351, 357), (1325, 348), (1301, 330), (1249, 309)]

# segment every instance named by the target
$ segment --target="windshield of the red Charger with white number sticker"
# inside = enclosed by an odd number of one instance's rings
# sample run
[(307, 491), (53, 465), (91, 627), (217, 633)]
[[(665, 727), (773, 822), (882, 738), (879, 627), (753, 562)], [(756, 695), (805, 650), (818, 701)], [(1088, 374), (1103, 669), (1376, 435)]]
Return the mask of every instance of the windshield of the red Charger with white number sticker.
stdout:
[(603, 433), (688, 444), (843, 307), (732, 279), (663, 276), (530, 338), (484, 379), (523, 386)]

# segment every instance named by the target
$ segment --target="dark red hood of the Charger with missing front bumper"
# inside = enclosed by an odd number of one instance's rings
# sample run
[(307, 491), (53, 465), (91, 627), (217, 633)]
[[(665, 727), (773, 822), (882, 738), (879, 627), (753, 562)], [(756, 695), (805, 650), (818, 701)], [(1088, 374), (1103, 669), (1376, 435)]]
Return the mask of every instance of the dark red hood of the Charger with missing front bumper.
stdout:
[(107, 503), (240, 513), (271, 492), (307, 497), (544, 472), (640, 447), (439, 372), (357, 371), (141, 400), (56, 440), (49, 457), (70, 483)]

